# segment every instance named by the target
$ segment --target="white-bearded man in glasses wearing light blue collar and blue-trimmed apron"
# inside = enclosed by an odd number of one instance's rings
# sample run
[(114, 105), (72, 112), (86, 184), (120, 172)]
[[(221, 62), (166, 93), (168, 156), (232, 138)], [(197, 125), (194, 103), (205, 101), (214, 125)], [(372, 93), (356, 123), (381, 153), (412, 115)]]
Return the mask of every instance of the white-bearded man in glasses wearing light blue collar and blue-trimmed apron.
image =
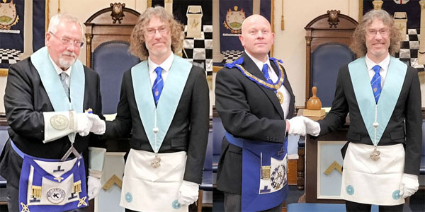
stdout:
[(0, 157), (8, 211), (78, 210), (101, 188), (105, 151), (88, 148), (102, 145), (89, 134), (102, 127), (92, 128), (102, 111), (100, 83), (77, 59), (83, 32), (77, 18), (57, 14), (45, 47), (8, 69), (4, 106), (10, 139)]

